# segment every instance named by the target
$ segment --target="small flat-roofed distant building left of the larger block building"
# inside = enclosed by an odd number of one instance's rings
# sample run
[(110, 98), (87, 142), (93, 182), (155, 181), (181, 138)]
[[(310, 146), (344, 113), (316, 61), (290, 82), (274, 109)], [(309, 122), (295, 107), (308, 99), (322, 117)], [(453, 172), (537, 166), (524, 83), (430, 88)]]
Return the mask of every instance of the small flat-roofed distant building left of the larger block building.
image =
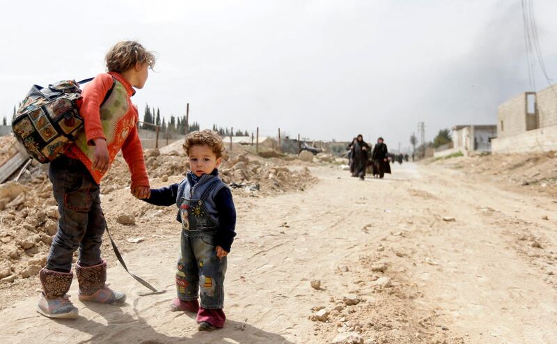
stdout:
[(491, 152), (491, 140), (496, 134), (496, 125), (455, 125), (451, 135), (453, 141), (435, 148), (434, 157), (445, 157), (459, 152), (462, 155)]

